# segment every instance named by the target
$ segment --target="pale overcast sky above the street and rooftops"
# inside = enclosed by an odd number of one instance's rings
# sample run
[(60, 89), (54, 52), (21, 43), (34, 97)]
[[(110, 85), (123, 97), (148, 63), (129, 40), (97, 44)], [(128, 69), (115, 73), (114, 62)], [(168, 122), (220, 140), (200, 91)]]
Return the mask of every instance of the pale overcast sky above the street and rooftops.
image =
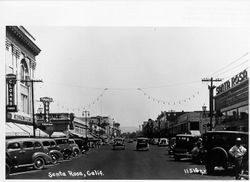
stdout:
[(121, 126), (138, 128), (161, 111), (208, 107), (208, 83), (201, 79), (226, 81), (248, 67), (246, 29), (25, 28), (42, 50), (36, 78), (44, 83), (36, 84), (36, 100), (52, 97), (51, 112), (81, 115), (85, 107)]

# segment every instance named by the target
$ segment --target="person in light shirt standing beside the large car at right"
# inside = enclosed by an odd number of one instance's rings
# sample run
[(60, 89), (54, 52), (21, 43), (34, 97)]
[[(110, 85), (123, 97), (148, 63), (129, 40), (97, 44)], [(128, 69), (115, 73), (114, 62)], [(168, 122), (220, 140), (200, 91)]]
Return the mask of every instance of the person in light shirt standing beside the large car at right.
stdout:
[(236, 138), (236, 145), (234, 145), (230, 150), (229, 154), (233, 157), (235, 164), (235, 179), (239, 179), (241, 169), (242, 169), (242, 159), (247, 149), (242, 146), (241, 138)]

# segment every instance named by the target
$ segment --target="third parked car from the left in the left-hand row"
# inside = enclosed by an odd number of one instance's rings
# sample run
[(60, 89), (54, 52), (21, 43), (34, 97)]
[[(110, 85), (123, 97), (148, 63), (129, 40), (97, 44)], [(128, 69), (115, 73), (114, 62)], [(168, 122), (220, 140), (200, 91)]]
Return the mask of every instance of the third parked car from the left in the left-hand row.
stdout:
[(64, 159), (70, 159), (73, 156), (73, 150), (68, 138), (54, 138)]

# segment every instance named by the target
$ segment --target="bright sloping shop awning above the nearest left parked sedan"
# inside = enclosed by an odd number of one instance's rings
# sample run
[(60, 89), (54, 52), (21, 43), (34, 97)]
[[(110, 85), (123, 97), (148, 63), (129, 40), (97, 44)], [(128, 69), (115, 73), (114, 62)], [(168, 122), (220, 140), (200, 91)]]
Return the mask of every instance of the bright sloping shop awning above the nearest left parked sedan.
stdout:
[(30, 136), (30, 133), (18, 127), (15, 123), (5, 123), (5, 136)]

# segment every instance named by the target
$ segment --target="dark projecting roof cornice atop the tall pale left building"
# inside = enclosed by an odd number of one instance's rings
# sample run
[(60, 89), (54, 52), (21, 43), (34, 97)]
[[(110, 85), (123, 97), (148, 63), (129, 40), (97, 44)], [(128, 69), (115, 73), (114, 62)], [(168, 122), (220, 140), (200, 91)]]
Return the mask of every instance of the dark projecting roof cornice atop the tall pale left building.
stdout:
[(31, 52), (33, 52), (35, 54), (35, 56), (37, 56), (41, 52), (41, 49), (32, 40), (30, 40), (29, 37), (27, 37), (18, 28), (18, 26), (6, 26), (6, 31), (15, 35), (15, 37), (18, 40), (20, 40), (22, 43), (24, 43), (24, 45), (26, 45), (26, 47), (28, 47), (31, 50)]

